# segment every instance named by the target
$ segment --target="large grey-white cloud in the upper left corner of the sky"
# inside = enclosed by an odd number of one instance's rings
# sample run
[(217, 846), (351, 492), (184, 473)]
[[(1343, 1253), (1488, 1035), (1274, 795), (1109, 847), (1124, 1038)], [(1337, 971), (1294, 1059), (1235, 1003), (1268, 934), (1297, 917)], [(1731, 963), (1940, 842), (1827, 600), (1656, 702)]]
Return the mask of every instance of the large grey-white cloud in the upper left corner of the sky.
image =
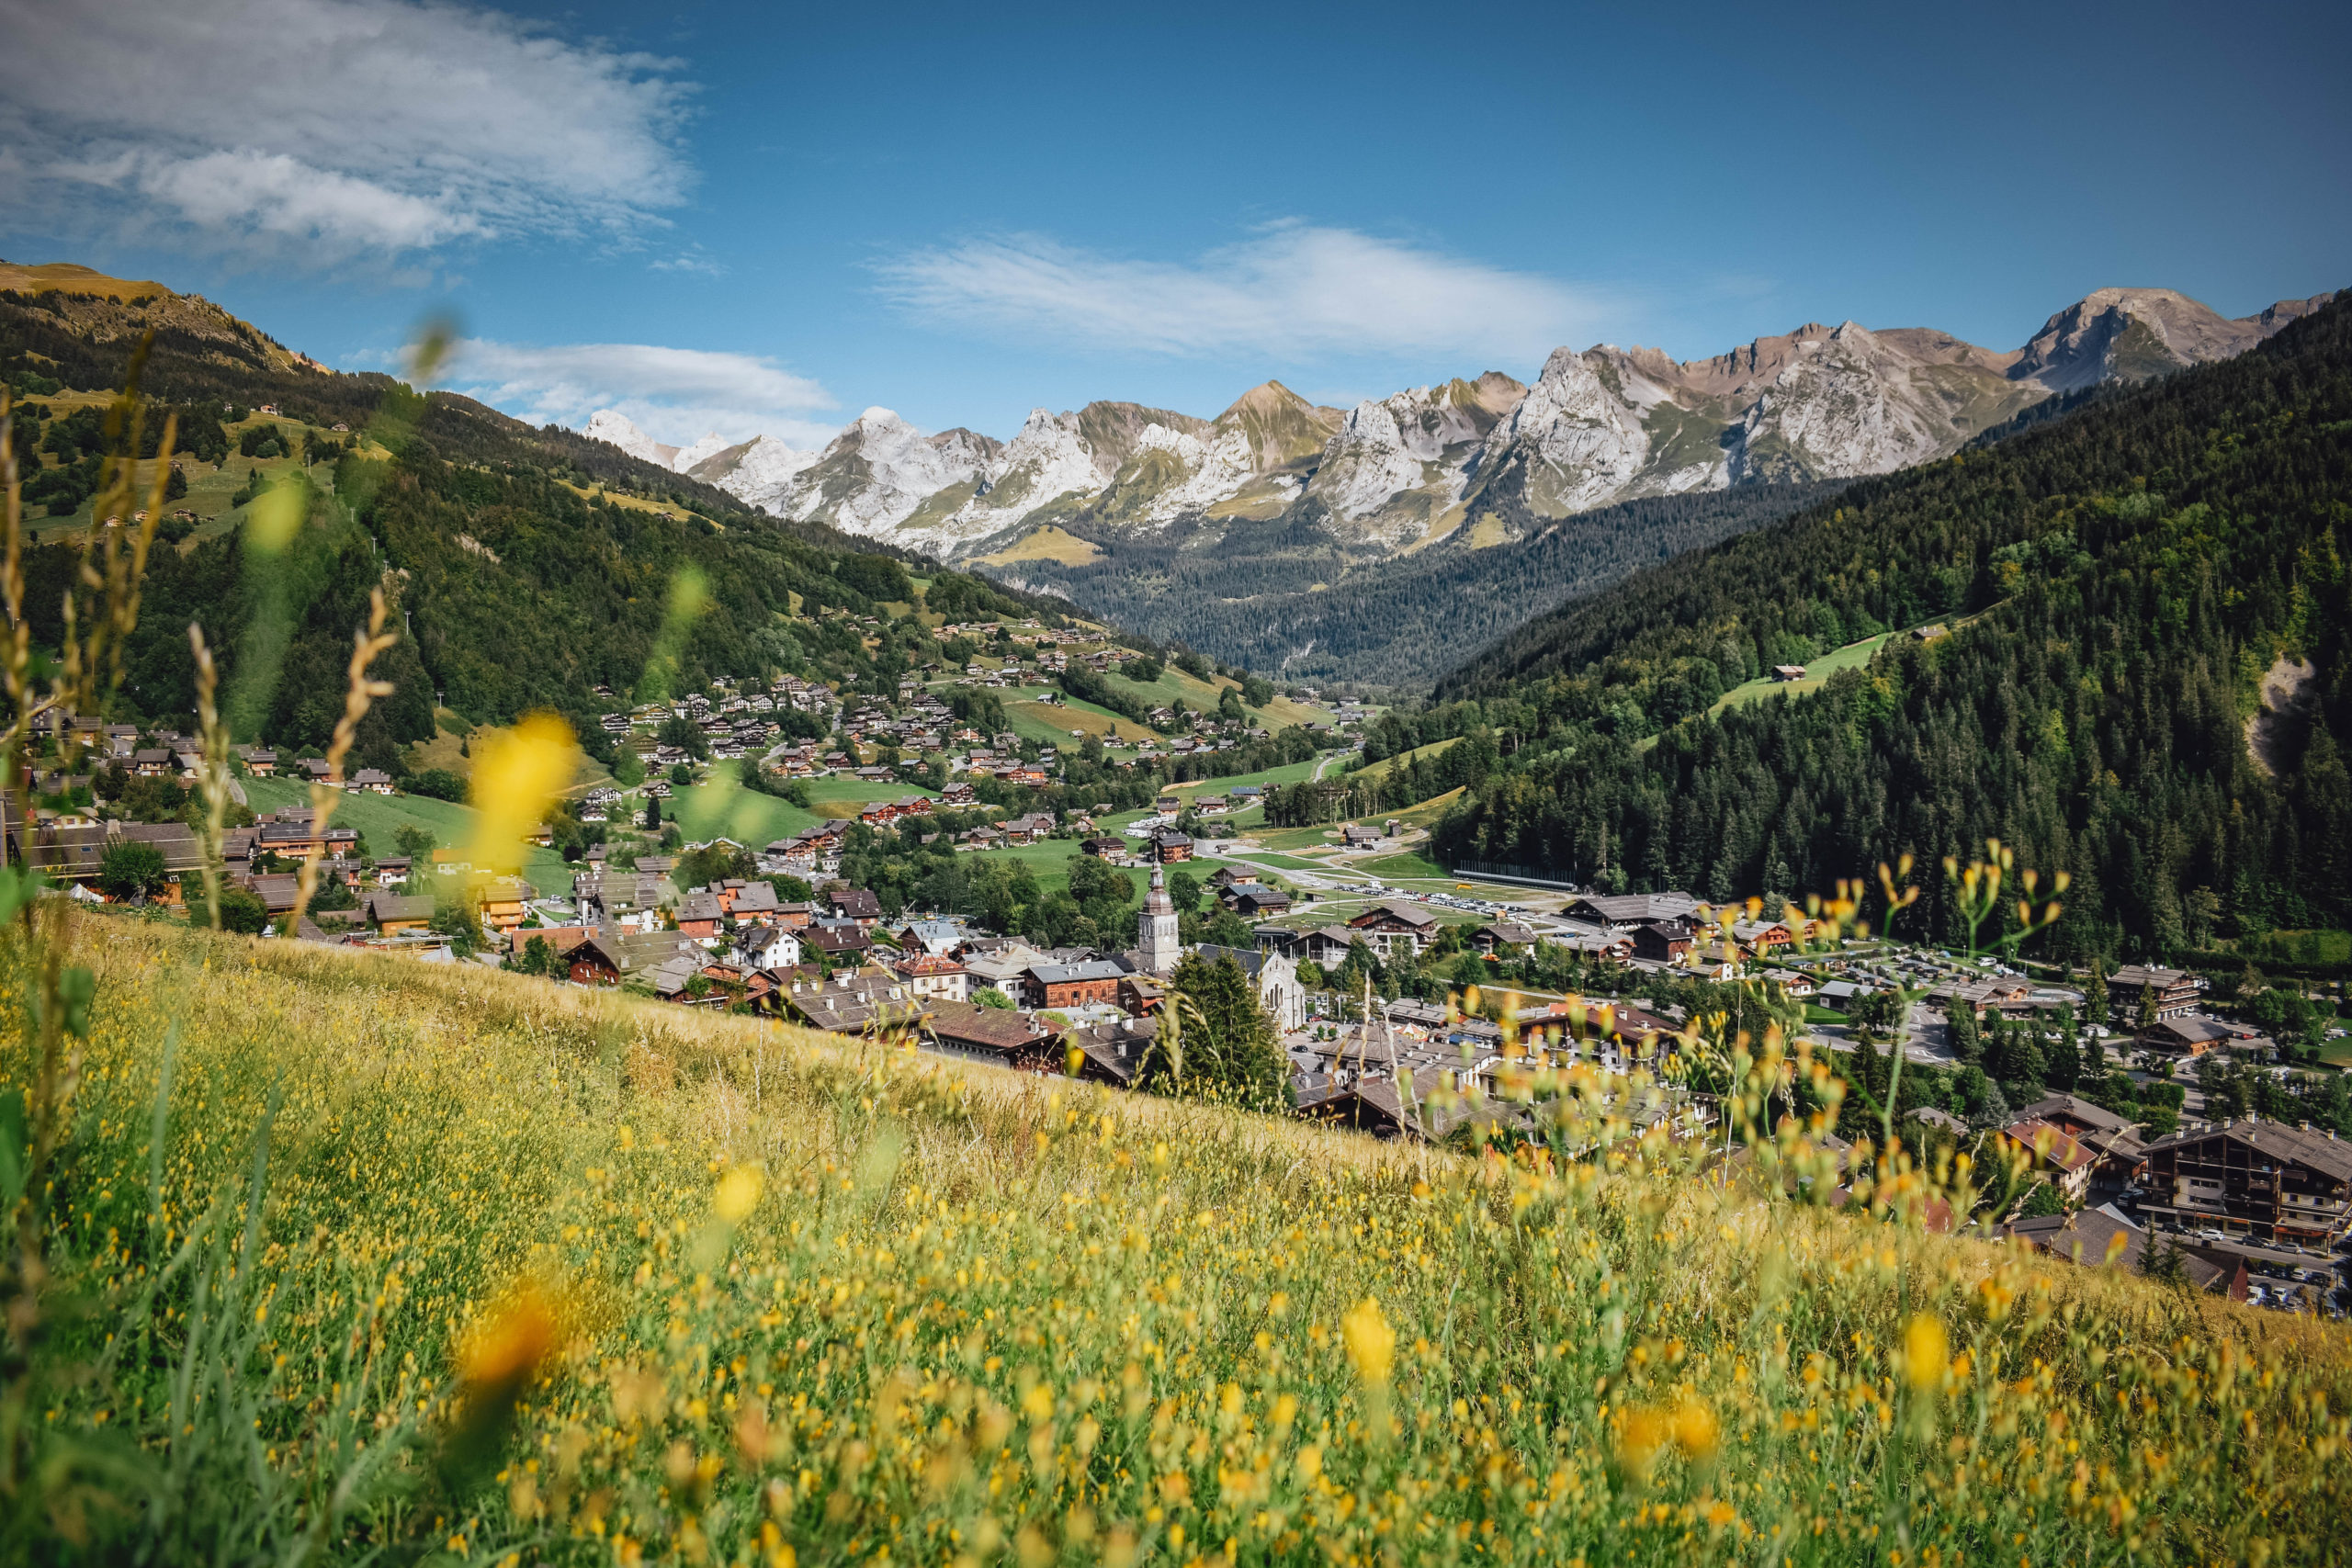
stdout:
[(280, 259), (630, 233), (680, 200), (675, 63), (433, 0), (0, 0), (0, 197)]

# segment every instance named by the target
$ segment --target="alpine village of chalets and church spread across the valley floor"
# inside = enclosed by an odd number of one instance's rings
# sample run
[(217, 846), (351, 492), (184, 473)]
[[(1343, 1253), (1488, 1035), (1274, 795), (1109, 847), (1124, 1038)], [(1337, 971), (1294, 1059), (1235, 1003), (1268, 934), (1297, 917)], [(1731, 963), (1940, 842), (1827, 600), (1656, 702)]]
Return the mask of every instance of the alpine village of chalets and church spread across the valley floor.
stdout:
[[(882, 644), (880, 618), (854, 621)], [(249, 820), (223, 835), (219, 896), (254, 931), (299, 919), (313, 943), (1117, 1088), (1167, 1072), (1171, 997), (1225, 969), (1263, 1011), (1291, 1114), (1381, 1138), (1510, 1135), (1536, 1114), (1515, 1093), (1529, 1072), (1585, 1074), (1606, 1103), (1729, 997), (1755, 1037), (1802, 1030), (1879, 1093), (1900, 1058), (1919, 1147), (2011, 1150), (2030, 1171), (2018, 1241), (2343, 1309), (2352, 1143), (2298, 1114), (2343, 1093), (2333, 985), (2225, 997), (2201, 973), (1971, 957), (1762, 900), (1456, 877), (1428, 858), (1444, 797), (1331, 816), (1362, 799), (1350, 773), (1385, 766), (1362, 755), (1371, 705), (1082, 623), (910, 621), (941, 656), (868, 689), (597, 689), (588, 741), (612, 764), (583, 762), (503, 863), (475, 863), (447, 769), (336, 776), (238, 745), (230, 811)], [(202, 900), (195, 830), (139, 820), (195, 799), (200, 743), (61, 738), (87, 759), (35, 778), (28, 863), (85, 900)], [(313, 788), (334, 792), (325, 825)], [(296, 912), (306, 863), (320, 889)], [(1696, 1079), (1623, 1110), (1722, 1133)]]

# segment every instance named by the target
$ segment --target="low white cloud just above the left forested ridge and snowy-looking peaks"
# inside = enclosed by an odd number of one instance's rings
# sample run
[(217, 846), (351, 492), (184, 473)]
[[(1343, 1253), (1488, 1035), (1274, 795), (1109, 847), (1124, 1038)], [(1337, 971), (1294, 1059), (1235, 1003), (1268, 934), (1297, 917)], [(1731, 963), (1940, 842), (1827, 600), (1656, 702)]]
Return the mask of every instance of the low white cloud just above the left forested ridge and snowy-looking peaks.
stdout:
[(833, 393), (769, 360), (654, 343), (492, 343), (468, 339), (440, 374), (466, 393), (532, 423), (586, 425), (597, 409), (628, 414), (659, 442), (684, 447), (706, 430), (729, 442), (774, 435), (790, 447), (833, 440), (807, 418)]

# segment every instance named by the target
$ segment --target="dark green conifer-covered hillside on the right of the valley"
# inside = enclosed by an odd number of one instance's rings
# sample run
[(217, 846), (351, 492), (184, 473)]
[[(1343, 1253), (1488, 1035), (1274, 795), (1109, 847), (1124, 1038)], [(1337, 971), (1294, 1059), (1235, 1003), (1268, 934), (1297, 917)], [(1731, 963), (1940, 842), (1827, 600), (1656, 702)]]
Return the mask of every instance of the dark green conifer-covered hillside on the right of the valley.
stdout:
[[(2345, 924), (2347, 531), (2338, 303), (1541, 618), (1388, 745), (1510, 731), (1437, 827), (1454, 860), (1802, 896), (1999, 835), (2074, 875), (2060, 950)], [(1950, 635), (1710, 712), (1776, 663), (1922, 623)], [(1947, 933), (1926, 889), (1905, 919)]]

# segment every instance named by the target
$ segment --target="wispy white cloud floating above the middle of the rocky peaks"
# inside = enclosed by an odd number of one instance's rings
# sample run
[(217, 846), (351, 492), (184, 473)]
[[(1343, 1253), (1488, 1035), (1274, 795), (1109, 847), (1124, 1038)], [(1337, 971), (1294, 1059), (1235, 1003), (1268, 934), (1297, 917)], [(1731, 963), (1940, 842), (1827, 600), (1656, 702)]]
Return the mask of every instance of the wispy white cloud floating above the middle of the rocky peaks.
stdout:
[(1597, 327), (1592, 294), (1348, 228), (1284, 223), (1197, 261), (1134, 261), (1037, 235), (882, 263), (920, 315), (1169, 355), (1451, 353), (1541, 360)]

